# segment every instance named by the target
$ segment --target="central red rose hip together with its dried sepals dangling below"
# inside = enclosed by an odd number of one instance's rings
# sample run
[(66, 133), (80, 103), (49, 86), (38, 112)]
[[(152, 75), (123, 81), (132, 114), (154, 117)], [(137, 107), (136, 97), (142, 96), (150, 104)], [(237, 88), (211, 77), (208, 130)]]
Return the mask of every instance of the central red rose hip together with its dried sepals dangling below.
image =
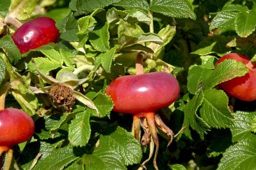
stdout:
[[(156, 158), (159, 150), (157, 127), (170, 137), (168, 145), (172, 143), (174, 137), (172, 130), (164, 125), (155, 112), (175, 102), (179, 97), (179, 92), (179, 82), (173, 75), (166, 72), (139, 73), (118, 77), (106, 88), (106, 94), (114, 103), (113, 111), (132, 114), (134, 137), (140, 141), (141, 127), (145, 132), (141, 144), (144, 146), (149, 144), (152, 136), (156, 144), (153, 161), (155, 169), (158, 169)], [(150, 149), (150, 157), (141, 164), (141, 167), (145, 167), (147, 161), (152, 157), (152, 151)]]

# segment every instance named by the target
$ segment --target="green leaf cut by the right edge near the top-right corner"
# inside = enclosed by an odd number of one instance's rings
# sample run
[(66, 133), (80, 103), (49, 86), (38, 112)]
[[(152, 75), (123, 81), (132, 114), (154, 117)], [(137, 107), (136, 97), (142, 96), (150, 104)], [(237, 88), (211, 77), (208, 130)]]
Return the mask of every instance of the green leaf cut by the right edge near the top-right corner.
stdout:
[(237, 35), (241, 37), (247, 37), (248, 35), (252, 34), (255, 31), (255, 15), (256, 11), (251, 10), (248, 12), (239, 13), (236, 16), (235, 20), (235, 28)]

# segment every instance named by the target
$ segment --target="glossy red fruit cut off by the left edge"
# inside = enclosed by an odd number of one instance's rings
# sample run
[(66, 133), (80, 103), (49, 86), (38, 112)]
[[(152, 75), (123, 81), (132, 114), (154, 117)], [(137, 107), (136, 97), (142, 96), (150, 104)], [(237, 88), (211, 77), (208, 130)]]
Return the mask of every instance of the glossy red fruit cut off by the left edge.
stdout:
[(34, 121), (26, 112), (15, 108), (0, 111), (0, 147), (11, 149), (30, 139), (34, 130)]

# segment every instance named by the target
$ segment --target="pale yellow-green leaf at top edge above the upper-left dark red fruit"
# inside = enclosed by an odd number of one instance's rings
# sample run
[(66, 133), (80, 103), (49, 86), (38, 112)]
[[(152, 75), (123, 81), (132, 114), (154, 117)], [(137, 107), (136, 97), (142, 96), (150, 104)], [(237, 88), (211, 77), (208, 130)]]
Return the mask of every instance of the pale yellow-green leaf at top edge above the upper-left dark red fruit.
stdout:
[(9, 16), (19, 20), (28, 19), (36, 6), (36, 0), (12, 0)]

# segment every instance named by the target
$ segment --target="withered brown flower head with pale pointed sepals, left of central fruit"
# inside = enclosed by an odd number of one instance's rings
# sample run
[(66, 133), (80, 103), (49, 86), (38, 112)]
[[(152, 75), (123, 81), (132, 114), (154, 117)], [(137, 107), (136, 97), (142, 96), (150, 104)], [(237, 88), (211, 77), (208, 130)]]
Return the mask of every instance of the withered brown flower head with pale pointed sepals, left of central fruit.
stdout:
[[(52, 102), (59, 107), (65, 108), (67, 112), (70, 112), (72, 110), (72, 106), (75, 104), (75, 99), (79, 100), (79, 102), (90, 107), (91, 109), (95, 109), (96, 111), (98, 111), (92, 100), (75, 90), (77, 86), (79, 86), (79, 84), (83, 84), (84, 82), (88, 81), (87, 78), (78, 79), (76, 77), (71, 77), (71, 79), (65, 81), (62, 81), (62, 79), (56, 80), (53, 77), (40, 72), (35, 63), (33, 63), (33, 65), (35, 66), (36, 71), (38, 72), (40, 77), (48, 84), (51, 84), (51, 86), (45, 86), (44, 88), (40, 89), (31, 88), (33, 93), (49, 94), (52, 98)], [(68, 75), (70, 75), (70, 72), (68, 72)], [(64, 77), (67, 78), (68, 76)]]

